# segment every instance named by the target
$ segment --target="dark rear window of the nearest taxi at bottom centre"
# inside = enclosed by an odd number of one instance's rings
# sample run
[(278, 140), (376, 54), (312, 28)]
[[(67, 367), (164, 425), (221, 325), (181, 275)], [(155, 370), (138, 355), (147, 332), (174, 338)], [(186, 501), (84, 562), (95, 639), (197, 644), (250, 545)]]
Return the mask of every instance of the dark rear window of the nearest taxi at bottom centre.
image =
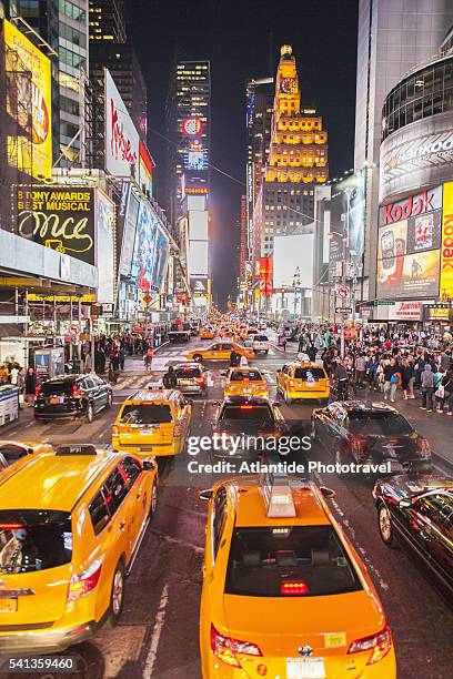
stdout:
[(234, 530), (225, 594), (319, 597), (360, 589), (359, 577), (330, 526)]

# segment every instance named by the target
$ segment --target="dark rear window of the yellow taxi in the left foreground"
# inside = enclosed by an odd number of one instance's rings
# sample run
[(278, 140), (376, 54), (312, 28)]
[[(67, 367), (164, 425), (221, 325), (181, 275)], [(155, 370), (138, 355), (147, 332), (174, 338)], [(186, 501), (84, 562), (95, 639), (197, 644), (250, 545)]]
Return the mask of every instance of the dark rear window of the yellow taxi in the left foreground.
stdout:
[(71, 557), (71, 515), (67, 511), (0, 511), (0, 574), (47, 570), (69, 564)]

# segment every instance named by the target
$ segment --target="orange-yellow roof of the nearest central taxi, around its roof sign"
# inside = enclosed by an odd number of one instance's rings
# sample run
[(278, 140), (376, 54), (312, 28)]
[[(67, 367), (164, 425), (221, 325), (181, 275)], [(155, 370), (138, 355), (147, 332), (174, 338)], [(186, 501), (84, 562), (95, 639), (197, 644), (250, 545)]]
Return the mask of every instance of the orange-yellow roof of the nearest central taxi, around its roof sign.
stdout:
[[(245, 480), (245, 479), (244, 479)], [(235, 489), (235, 525), (252, 526), (330, 526), (322, 501), (310, 484), (291, 482), (295, 517), (270, 518), (266, 515), (259, 477), (226, 482)]]

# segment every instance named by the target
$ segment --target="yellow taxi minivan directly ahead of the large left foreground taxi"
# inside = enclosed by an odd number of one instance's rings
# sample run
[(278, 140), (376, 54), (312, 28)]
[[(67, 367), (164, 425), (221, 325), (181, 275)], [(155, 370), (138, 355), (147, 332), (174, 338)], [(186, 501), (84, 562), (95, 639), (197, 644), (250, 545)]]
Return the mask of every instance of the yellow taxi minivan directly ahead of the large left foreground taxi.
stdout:
[(192, 401), (178, 389), (139, 389), (121, 405), (112, 430), (113, 450), (169, 456), (184, 452)]

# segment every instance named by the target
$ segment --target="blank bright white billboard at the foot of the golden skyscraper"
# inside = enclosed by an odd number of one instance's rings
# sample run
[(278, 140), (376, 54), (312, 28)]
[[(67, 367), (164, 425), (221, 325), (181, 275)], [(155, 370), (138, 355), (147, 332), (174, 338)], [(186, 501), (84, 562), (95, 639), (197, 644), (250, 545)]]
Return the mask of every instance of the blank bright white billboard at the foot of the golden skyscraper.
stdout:
[(313, 286), (312, 233), (274, 236), (273, 287)]

